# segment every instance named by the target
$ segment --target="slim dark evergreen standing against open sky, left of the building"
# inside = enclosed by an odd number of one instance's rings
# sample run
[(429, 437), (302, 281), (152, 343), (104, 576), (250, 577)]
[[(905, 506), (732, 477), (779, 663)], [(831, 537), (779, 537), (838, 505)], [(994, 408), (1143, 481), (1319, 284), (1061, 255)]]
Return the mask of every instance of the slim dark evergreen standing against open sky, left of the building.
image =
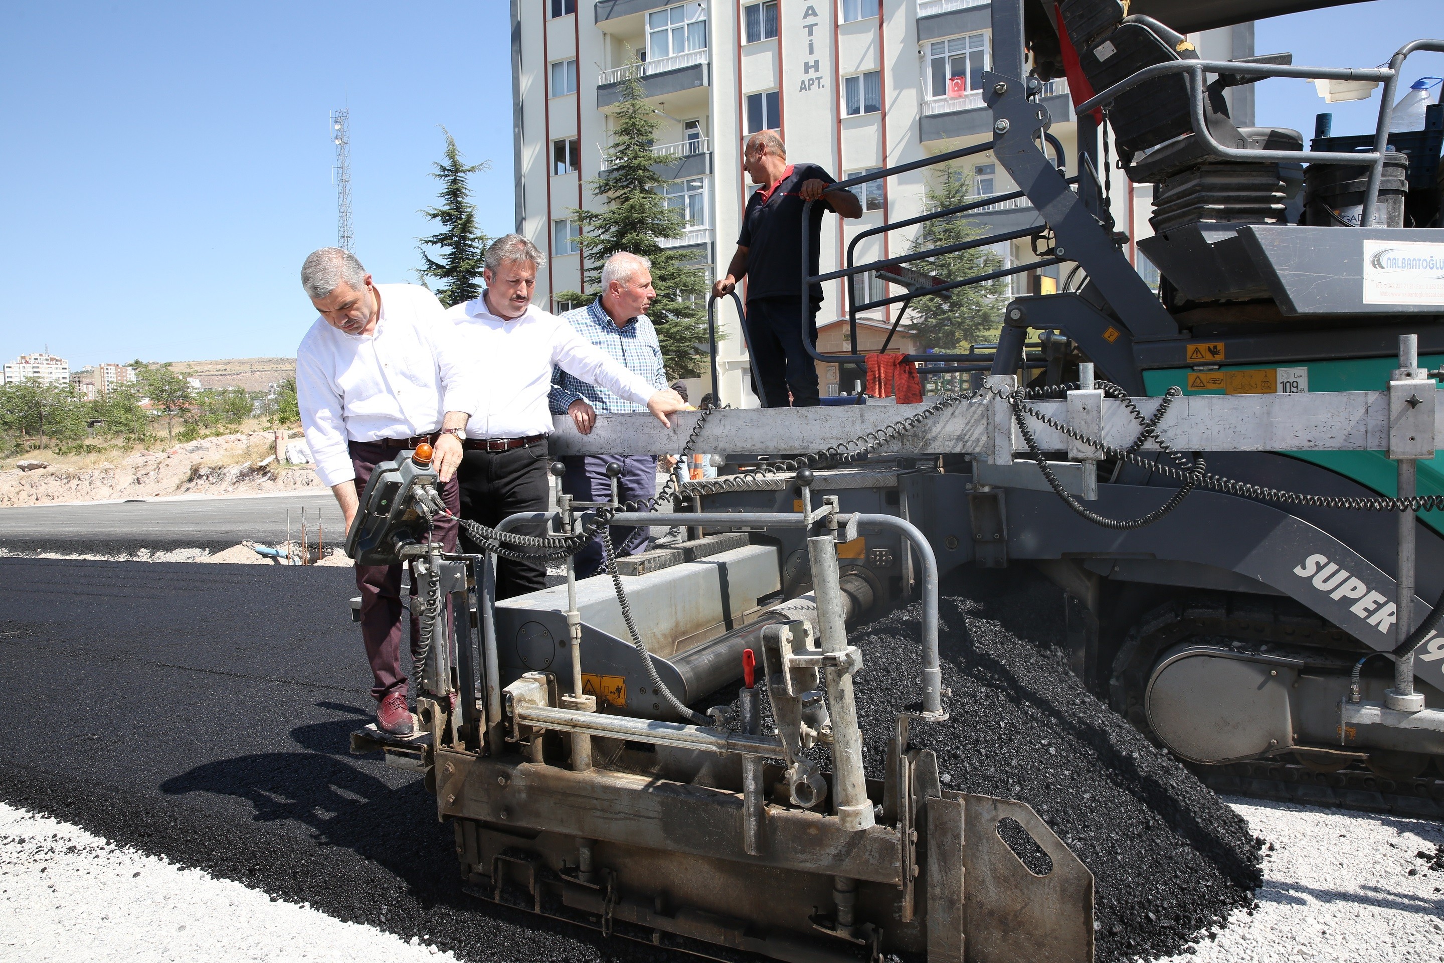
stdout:
[[(490, 170), (491, 162), (462, 163), (456, 140), (445, 127), (442, 133), (446, 134), (446, 160), (435, 163), (436, 170), (432, 172), (432, 176), (442, 182), (439, 195), (442, 204), (422, 211), (427, 219), (436, 221), (440, 230), (430, 237), (416, 238), (422, 243), (416, 250), (420, 251), (425, 264), (416, 273), (423, 284), (427, 277), (440, 282), (440, 287), (435, 292), (436, 297), (451, 308), (481, 295), (482, 258), (491, 238), (477, 230), (477, 205), (471, 202), (466, 178), (478, 170)], [(427, 247), (438, 248), (440, 260), (427, 254)]]

